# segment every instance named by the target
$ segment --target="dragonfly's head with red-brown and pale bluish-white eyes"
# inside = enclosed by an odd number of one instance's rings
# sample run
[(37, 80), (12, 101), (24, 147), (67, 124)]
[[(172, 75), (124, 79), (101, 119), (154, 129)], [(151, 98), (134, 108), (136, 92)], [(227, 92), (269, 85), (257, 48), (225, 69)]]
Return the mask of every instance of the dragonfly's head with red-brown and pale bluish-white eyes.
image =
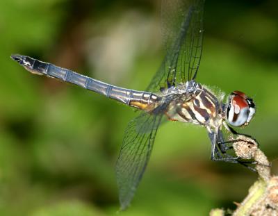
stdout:
[(227, 122), (231, 126), (246, 126), (255, 112), (255, 103), (252, 99), (243, 92), (231, 92), (227, 106)]

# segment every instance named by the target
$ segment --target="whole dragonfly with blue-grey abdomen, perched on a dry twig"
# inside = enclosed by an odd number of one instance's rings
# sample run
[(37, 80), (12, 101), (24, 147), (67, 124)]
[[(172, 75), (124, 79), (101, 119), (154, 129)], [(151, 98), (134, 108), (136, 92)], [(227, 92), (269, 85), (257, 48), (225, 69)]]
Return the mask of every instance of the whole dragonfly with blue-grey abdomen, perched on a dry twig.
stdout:
[(161, 28), (166, 55), (145, 91), (110, 85), (29, 56), (11, 56), (33, 74), (79, 85), (140, 110), (126, 127), (115, 166), (122, 210), (130, 205), (138, 188), (163, 119), (206, 128), (212, 160), (244, 165), (240, 158), (228, 153), (232, 147), (222, 131), (224, 128), (227, 133), (238, 134), (234, 127), (250, 123), (255, 103), (240, 91), (231, 92), (224, 101), (196, 81), (202, 57), (203, 17), (204, 0), (162, 0)]

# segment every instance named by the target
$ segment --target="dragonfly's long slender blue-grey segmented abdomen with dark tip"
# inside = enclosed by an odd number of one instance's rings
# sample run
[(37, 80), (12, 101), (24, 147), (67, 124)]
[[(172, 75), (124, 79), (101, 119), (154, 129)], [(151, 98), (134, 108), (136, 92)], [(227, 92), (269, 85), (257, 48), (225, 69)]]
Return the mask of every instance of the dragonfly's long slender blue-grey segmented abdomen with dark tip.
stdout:
[(51, 63), (44, 63), (28, 56), (13, 55), (12, 58), (33, 74), (49, 76), (51, 78), (57, 78), (60, 81), (79, 85), (82, 88), (103, 94), (108, 98), (115, 99), (141, 110), (149, 111), (154, 109), (158, 101), (158, 97), (150, 92), (120, 88), (88, 76), (83, 76), (70, 69), (58, 67)]

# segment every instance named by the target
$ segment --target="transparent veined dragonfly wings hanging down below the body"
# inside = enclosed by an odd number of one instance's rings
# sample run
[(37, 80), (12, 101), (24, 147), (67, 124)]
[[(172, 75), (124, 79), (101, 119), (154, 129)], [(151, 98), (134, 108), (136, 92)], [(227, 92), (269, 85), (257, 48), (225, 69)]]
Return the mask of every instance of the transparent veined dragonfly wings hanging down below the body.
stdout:
[(145, 172), (162, 114), (141, 113), (129, 122), (116, 164), (121, 209), (129, 206)]

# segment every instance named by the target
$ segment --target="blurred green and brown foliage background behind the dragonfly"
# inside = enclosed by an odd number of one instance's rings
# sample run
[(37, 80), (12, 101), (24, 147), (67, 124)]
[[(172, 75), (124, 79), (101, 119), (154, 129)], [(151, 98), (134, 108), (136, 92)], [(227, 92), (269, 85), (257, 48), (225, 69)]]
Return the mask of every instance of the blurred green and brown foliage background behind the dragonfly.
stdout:
[[(116, 215), (114, 165), (136, 113), (33, 76), (21, 53), (124, 88), (145, 90), (163, 60), (160, 1), (0, 1), (0, 215)], [(277, 174), (277, 2), (206, 1), (197, 81), (246, 92), (256, 138)], [(131, 207), (119, 215), (208, 215), (236, 208), (256, 174), (210, 160), (204, 128), (168, 122), (156, 135)]]

